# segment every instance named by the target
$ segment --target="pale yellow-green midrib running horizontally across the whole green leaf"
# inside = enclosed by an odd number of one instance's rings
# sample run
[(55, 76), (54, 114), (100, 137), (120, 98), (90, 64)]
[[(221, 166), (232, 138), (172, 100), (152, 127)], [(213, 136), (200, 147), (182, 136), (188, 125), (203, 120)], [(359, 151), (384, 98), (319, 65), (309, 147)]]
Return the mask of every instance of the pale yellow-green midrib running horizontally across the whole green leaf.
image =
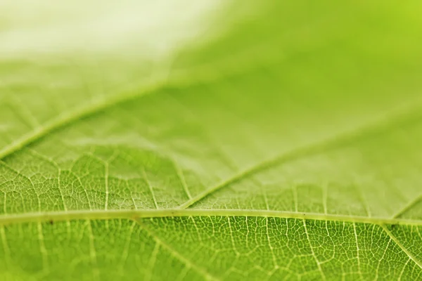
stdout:
[(371, 223), (376, 225), (399, 224), (422, 226), (422, 220), (340, 214), (318, 214), (295, 211), (248, 210), (248, 209), (123, 209), (123, 210), (79, 210), (49, 211), (0, 216), (0, 225), (31, 222), (72, 221), (79, 219), (107, 220), (113, 218), (164, 218), (181, 216), (254, 216), (273, 218), (298, 218), (315, 221), (340, 221), (346, 223)]

